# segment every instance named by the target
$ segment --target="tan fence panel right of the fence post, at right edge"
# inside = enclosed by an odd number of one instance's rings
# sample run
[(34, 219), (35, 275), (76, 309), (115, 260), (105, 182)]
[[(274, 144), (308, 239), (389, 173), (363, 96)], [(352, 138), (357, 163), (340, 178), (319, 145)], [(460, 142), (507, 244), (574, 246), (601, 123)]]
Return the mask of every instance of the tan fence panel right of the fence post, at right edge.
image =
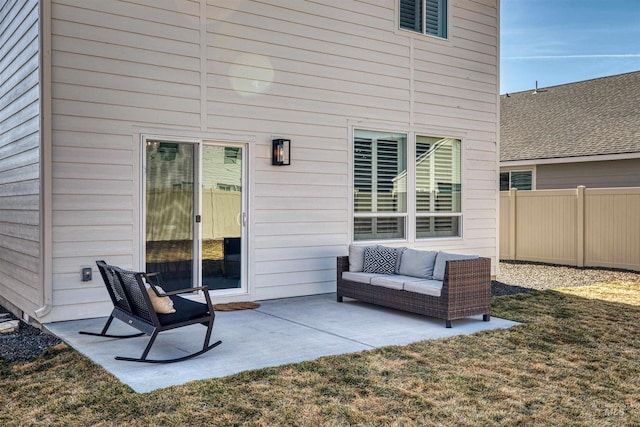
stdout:
[(640, 188), (586, 190), (585, 265), (640, 270)]

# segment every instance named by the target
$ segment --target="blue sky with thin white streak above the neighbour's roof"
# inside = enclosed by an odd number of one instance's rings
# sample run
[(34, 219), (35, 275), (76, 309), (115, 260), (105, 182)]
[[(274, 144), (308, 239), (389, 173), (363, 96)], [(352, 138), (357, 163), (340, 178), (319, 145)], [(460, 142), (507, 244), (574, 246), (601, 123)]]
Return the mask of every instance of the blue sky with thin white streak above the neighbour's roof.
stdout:
[(501, 0), (500, 93), (640, 71), (640, 0)]

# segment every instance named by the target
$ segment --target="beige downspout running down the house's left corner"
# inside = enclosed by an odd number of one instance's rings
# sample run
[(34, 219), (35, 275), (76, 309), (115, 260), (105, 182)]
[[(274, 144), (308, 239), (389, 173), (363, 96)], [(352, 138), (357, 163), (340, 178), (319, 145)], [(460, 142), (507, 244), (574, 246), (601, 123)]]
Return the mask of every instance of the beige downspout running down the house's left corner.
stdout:
[(43, 306), (38, 319), (51, 312), (53, 303), (51, 229), (51, 2), (40, 1), (40, 286)]

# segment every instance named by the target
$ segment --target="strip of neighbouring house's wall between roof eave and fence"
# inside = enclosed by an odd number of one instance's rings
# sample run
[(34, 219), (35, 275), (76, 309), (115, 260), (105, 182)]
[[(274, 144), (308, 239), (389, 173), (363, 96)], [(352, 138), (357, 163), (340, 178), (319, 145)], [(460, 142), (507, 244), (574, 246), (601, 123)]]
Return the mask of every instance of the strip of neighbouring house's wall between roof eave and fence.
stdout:
[(538, 165), (536, 178), (538, 190), (638, 187), (640, 159)]

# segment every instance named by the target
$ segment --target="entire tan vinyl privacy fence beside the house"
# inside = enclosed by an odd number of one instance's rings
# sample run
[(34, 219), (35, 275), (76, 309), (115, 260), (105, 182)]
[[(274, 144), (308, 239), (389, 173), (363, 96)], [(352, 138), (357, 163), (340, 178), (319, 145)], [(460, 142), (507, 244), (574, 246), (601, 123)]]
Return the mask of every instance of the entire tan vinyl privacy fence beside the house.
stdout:
[(640, 188), (501, 193), (500, 259), (640, 271)]

